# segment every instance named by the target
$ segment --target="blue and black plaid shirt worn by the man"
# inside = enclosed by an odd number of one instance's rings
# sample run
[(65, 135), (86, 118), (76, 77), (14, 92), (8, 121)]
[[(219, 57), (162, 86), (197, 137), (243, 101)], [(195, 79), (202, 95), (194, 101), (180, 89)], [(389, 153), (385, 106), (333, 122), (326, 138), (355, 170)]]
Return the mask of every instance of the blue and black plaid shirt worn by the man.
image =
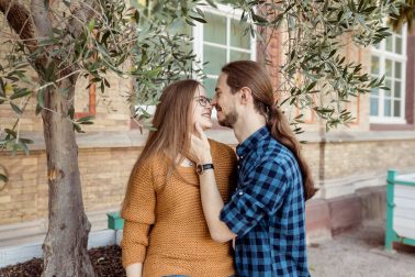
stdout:
[(310, 276), (301, 170), (263, 126), (243, 144), (238, 186), (221, 212), (237, 234), (237, 276)]

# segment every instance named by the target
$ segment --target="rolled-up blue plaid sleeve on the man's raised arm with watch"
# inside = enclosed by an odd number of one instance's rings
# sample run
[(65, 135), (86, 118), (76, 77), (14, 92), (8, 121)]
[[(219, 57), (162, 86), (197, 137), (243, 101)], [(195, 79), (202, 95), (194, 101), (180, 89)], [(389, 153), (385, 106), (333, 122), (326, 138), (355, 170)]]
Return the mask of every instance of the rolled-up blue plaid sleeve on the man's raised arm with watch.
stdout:
[(266, 214), (281, 207), (288, 181), (284, 169), (274, 160), (262, 162), (250, 171), (221, 212), (221, 220), (243, 236)]

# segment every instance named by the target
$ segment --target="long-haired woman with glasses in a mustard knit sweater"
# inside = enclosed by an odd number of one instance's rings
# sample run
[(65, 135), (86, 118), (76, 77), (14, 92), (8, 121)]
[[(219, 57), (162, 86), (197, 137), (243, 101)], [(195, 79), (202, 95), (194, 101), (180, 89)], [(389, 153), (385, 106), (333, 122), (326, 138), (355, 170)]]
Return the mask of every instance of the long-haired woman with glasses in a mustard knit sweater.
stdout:
[(194, 125), (212, 128), (212, 106), (195, 80), (168, 86), (135, 164), (122, 209), (123, 266), (127, 276), (232, 276), (232, 245), (211, 239), (200, 199), (199, 175), (214, 170), (222, 198), (233, 190), (236, 156), (210, 141), (212, 164), (188, 157)]

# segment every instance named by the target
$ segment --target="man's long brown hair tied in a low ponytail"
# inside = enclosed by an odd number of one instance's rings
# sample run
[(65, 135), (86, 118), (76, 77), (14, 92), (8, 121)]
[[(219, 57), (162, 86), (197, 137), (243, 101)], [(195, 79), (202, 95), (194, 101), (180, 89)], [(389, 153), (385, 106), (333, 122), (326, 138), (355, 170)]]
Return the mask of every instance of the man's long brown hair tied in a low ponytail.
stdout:
[(271, 79), (262, 66), (253, 60), (237, 60), (225, 65), (222, 71), (227, 75), (232, 93), (244, 87), (251, 90), (256, 110), (267, 119), (271, 135), (295, 156), (303, 177), (304, 199), (317, 191), (310, 167), (301, 153), (301, 146), (292, 132), (285, 115), (276, 107)]

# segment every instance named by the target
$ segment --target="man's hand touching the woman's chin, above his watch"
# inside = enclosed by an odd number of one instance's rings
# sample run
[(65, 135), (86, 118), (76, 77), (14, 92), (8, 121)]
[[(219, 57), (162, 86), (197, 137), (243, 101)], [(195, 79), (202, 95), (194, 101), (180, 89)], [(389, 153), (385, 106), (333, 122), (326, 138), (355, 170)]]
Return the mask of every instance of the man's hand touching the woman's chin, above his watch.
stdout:
[(194, 124), (198, 135), (192, 134), (188, 158), (198, 165), (212, 164), (211, 145), (199, 123)]

